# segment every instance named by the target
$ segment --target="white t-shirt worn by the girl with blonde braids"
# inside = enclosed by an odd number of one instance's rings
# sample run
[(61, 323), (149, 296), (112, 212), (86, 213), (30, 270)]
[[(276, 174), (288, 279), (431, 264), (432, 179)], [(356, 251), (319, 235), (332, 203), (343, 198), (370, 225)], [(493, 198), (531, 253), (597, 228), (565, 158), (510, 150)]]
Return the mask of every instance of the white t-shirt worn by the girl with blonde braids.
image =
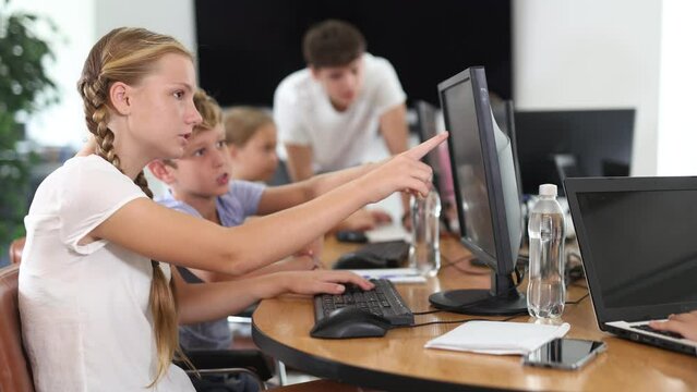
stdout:
[[(107, 241), (77, 242), (146, 197), (106, 160), (67, 161), (38, 187), (20, 267), (24, 346), (37, 391), (145, 391), (157, 355), (151, 260)], [(165, 275), (170, 269), (160, 264)], [(151, 391), (193, 391), (176, 366)]]

